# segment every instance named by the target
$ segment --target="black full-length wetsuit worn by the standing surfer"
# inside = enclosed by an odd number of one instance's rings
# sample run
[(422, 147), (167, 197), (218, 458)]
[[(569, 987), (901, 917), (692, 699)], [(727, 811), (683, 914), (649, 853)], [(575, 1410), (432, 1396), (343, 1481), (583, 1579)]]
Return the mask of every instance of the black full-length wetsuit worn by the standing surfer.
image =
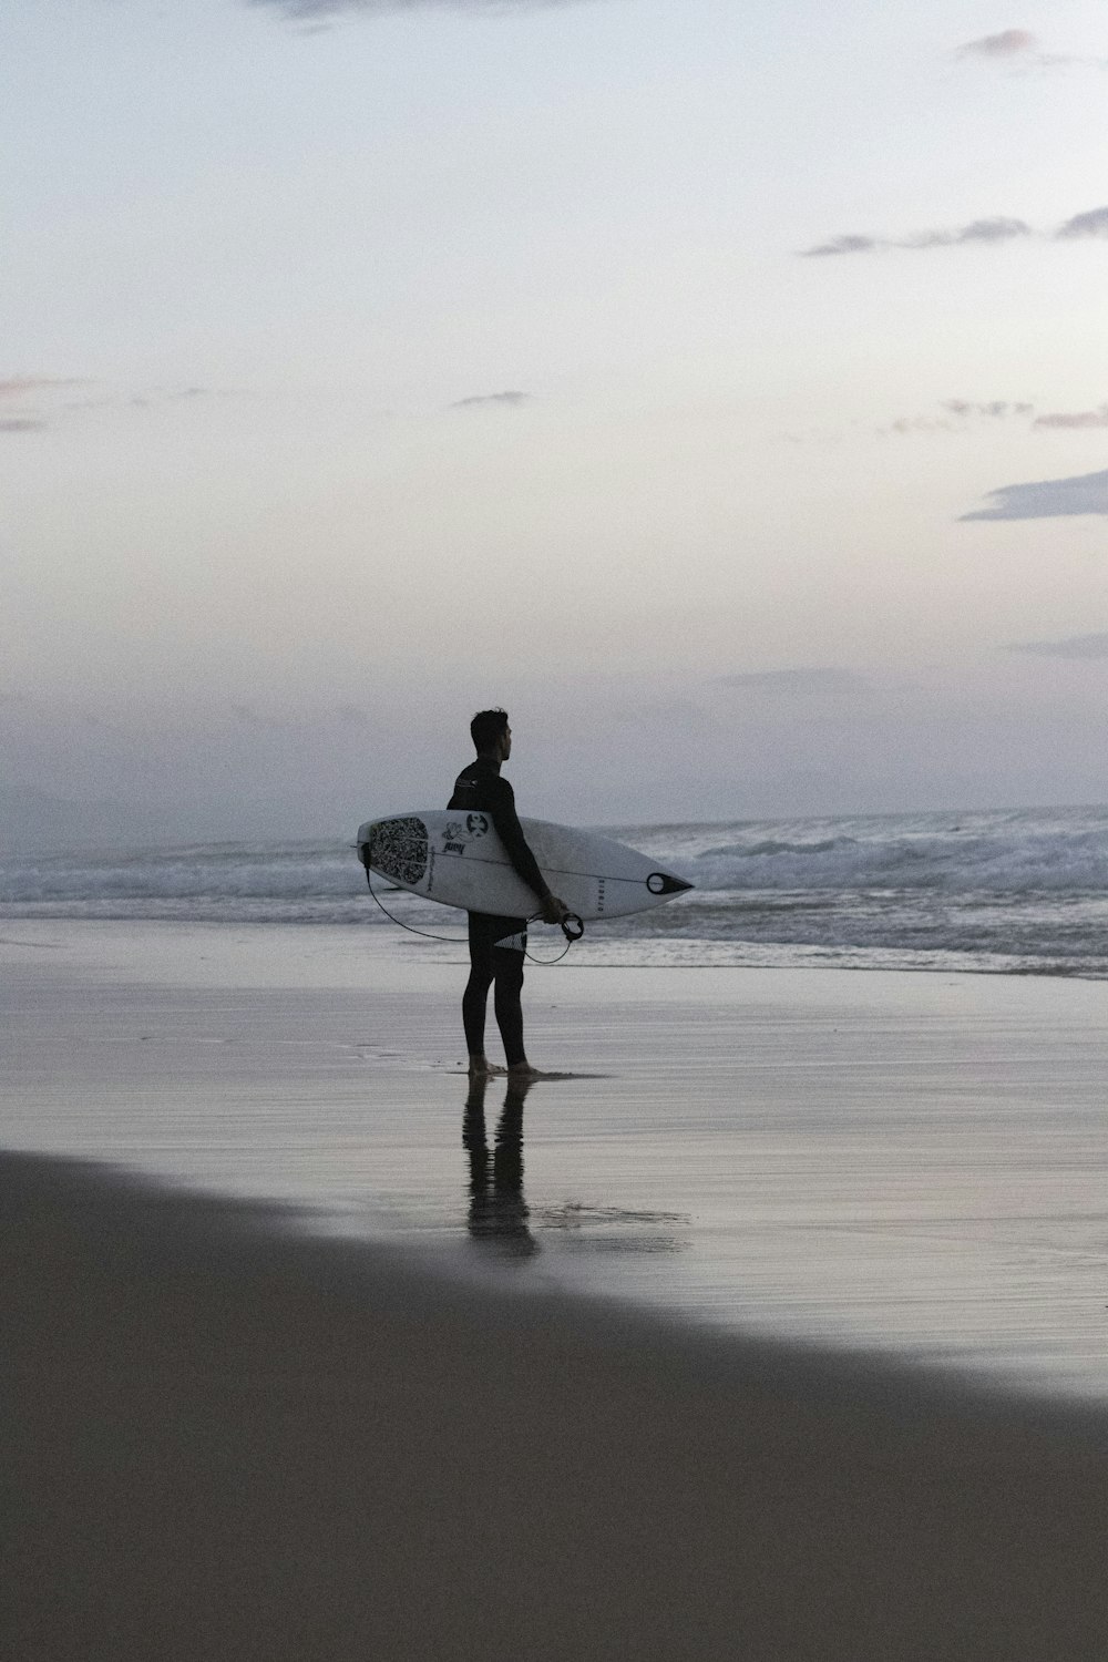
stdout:
[[(535, 901), (550, 894), (538, 861), (527, 846), (515, 813), (515, 791), (500, 778), (500, 763), (477, 756), (453, 784), (447, 808), (467, 814), (488, 814), (505, 853), (523, 883), (535, 891)], [(503, 1039), (508, 1067), (527, 1060), (523, 1050), (523, 954), (527, 951), (527, 917), (502, 917), (470, 912), (470, 979), (462, 997), (462, 1024), (470, 1055), (485, 1054), (485, 1006), (495, 982), (493, 1009)]]

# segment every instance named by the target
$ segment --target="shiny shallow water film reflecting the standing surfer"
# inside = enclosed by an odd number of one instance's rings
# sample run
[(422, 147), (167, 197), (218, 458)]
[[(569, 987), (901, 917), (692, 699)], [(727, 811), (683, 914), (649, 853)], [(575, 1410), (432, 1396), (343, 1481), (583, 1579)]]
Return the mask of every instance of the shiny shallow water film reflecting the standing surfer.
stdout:
[(1108, 1396), (1103, 984), (532, 971), (528, 1049), (583, 1077), (478, 1102), (449, 951), (304, 926), (3, 934), (7, 1147)]

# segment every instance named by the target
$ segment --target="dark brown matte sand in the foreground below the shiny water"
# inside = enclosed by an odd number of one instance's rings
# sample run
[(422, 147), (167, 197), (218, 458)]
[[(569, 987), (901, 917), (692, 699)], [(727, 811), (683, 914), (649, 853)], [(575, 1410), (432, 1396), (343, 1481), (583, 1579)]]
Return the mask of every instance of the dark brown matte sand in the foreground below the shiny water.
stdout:
[(1108, 1428), (0, 1162), (5, 1655), (1093, 1662)]

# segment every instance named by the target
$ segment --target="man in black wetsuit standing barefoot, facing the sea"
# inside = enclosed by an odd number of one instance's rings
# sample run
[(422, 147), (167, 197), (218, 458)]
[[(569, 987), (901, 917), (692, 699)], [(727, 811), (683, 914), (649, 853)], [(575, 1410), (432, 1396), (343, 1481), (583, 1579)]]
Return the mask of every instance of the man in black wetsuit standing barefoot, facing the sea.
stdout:
[[(537, 909), (548, 924), (560, 924), (568, 907), (547, 888), (538, 861), (527, 846), (515, 813), (515, 791), (500, 776), (500, 765), (512, 755), (512, 728), (505, 710), (478, 710), (470, 721), (477, 760), (463, 768), (453, 784), (447, 808), (488, 814), (508, 859), (520, 878), (535, 891)], [(470, 912), (470, 979), (462, 997), (462, 1024), (470, 1057), (470, 1074), (495, 1072), (485, 1055), (485, 1009), (488, 989), (503, 1039), (508, 1074), (515, 1079), (540, 1079), (523, 1050), (523, 954), (527, 952), (527, 917), (497, 917)]]

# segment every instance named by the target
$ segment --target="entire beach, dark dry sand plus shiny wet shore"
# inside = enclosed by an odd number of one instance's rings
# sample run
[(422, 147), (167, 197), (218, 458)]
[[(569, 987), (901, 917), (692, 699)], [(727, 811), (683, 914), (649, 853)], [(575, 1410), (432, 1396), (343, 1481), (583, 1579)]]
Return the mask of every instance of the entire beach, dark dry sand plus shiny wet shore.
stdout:
[(1103, 1655), (1101, 984), (3, 934), (8, 1654)]

